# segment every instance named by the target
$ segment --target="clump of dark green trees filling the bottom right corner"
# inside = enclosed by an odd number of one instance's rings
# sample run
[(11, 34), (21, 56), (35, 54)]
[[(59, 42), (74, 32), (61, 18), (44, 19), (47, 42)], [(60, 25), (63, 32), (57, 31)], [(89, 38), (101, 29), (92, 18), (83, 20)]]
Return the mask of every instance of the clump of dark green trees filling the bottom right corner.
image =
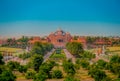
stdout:
[[(89, 75), (95, 79), (95, 81), (119, 81), (120, 80), (120, 56), (114, 55), (111, 57), (110, 62), (104, 60), (98, 60), (88, 68)], [(111, 79), (105, 73), (105, 70), (109, 70), (115, 75), (117, 79)]]

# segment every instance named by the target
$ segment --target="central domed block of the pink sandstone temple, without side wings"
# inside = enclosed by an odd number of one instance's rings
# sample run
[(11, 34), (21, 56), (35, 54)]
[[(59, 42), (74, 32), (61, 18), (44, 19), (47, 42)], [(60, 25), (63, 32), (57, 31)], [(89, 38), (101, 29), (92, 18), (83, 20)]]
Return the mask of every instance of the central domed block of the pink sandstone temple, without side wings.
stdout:
[(56, 32), (52, 32), (48, 38), (55, 48), (64, 48), (66, 43), (72, 39), (72, 36), (69, 32), (59, 29)]

